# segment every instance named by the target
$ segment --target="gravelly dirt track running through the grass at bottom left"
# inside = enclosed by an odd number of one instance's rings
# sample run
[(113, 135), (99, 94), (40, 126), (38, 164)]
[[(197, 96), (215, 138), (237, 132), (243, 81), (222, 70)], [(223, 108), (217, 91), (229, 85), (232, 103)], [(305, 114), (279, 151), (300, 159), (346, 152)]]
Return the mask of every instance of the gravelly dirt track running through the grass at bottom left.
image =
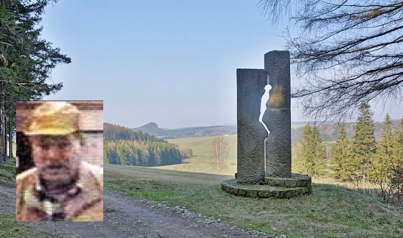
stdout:
[[(0, 213), (15, 214), (15, 187), (0, 184)], [(152, 208), (153, 207), (153, 208)], [(39, 238), (52, 237), (256, 237), (221, 223), (206, 224), (203, 218), (185, 218), (135, 197), (104, 190), (103, 222), (30, 222)], [(44, 232), (46, 230), (46, 232)]]

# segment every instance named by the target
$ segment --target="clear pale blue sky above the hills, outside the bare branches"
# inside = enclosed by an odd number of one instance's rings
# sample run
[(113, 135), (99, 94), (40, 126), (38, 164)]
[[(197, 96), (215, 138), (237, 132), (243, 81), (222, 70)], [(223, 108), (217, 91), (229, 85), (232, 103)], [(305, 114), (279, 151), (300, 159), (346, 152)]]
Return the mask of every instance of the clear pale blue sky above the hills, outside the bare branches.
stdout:
[[(264, 53), (285, 49), (288, 21), (273, 27), (257, 2), (60, 0), (42, 37), (72, 63), (56, 66), (63, 88), (43, 100), (103, 100), (104, 121), (127, 127), (234, 124), (236, 69), (263, 68)], [(403, 105), (373, 111), (400, 119)], [(292, 121), (305, 120), (292, 107)]]

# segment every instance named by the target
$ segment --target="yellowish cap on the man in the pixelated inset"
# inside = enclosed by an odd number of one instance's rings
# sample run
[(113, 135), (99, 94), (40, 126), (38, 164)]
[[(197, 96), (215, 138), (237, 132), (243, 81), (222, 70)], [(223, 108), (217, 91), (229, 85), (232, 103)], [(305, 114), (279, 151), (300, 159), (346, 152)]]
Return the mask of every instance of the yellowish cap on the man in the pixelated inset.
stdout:
[(26, 135), (66, 135), (79, 130), (80, 111), (70, 103), (43, 102), (32, 113)]

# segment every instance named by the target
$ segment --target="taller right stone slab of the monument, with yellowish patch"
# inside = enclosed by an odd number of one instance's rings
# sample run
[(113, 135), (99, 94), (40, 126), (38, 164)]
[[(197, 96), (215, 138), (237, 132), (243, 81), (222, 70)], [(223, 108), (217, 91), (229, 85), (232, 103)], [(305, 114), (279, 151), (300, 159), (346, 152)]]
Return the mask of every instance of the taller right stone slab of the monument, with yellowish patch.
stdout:
[(291, 77), (290, 53), (270, 51), (264, 54), (264, 70), (272, 86), (263, 114), (270, 131), (266, 140), (266, 176), (291, 177)]

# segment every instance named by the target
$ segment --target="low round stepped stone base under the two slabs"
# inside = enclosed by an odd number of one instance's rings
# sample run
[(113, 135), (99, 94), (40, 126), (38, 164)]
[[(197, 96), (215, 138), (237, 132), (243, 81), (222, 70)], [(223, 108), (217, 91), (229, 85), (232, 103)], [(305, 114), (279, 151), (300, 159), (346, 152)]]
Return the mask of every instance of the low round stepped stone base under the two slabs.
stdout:
[(224, 180), (221, 190), (252, 198), (292, 198), (312, 193), (311, 177), (300, 174), (292, 174), (291, 178), (265, 177), (264, 185), (238, 184), (236, 179)]

